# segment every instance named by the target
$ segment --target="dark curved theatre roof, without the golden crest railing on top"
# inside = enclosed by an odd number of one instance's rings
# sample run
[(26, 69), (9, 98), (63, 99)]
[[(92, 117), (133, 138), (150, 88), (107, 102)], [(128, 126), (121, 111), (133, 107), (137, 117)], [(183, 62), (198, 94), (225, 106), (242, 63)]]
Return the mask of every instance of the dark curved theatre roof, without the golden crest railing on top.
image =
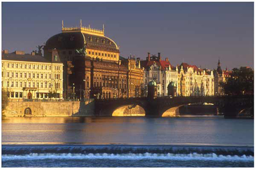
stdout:
[(86, 43), (86, 48), (93, 50), (104, 50), (108, 52), (119, 52), (116, 43), (106, 36), (97, 36), (93, 34), (77, 32), (61, 32), (49, 38), (44, 49), (64, 50), (81, 49)]

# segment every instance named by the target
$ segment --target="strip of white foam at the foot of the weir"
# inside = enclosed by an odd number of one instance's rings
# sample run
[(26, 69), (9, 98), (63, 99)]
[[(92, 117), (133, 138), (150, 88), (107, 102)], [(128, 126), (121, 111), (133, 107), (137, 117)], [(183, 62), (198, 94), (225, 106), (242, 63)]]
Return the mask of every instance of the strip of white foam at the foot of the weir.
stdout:
[(218, 160), (218, 161), (253, 161), (253, 156), (216, 155), (215, 153), (30, 153), (28, 155), (2, 155), (4, 160), (31, 160), (31, 159), (163, 159), (163, 160)]

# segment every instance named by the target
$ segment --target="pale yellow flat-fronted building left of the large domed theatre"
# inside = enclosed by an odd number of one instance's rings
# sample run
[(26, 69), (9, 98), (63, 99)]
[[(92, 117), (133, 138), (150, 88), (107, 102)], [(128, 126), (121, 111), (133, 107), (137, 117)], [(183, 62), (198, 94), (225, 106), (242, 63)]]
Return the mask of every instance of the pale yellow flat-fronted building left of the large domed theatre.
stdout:
[(62, 99), (63, 64), (56, 50), (49, 56), (2, 51), (2, 88), (10, 99)]

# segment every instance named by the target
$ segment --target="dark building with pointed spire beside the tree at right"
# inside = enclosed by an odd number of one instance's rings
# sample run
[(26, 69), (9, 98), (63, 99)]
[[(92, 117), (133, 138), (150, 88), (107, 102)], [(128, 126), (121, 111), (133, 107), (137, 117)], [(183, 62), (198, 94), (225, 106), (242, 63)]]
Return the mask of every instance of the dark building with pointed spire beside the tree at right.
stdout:
[(221, 69), (220, 59), (218, 60), (218, 67), (214, 70), (214, 95), (223, 95), (224, 91), (220, 83), (225, 82), (227, 77), (230, 77), (230, 71)]

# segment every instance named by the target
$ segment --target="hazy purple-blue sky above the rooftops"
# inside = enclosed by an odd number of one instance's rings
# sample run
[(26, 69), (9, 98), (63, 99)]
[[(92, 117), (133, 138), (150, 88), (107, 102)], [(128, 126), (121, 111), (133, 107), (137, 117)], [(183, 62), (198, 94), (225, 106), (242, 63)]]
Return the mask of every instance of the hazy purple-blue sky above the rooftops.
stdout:
[(253, 3), (2, 3), (2, 48), (30, 53), (64, 26), (102, 29), (120, 55), (253, 67)]

